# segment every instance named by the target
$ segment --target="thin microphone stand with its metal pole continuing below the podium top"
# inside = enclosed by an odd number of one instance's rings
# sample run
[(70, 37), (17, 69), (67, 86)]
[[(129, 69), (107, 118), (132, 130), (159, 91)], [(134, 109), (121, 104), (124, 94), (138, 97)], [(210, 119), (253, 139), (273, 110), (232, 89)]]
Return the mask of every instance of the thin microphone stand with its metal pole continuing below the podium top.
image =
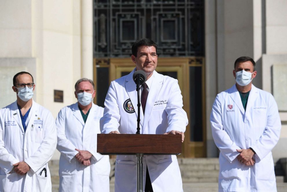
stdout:
[[(140, 74), (137, 74), (137, 133), (139, 133), (139, 122), (141, 114), (141, 102), (139, 99)], [(136, 153), (137, 156), (137, 192), (143, 192), (143, 153)]]

